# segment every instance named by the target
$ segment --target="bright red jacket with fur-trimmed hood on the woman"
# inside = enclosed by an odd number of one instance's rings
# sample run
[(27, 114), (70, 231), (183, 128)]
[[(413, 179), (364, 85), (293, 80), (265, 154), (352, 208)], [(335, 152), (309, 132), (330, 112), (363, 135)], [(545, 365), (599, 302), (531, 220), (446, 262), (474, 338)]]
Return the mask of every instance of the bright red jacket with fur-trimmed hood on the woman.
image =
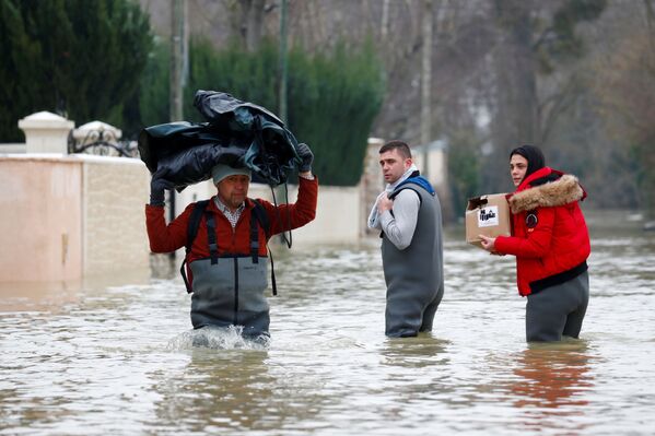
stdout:
[(523, 180), (508, 198), (512, 236), (499, 236), (495, 250), (516, 256), (521, 295), (586, 271), (589, 233), (578, 205), (585, 197), (577, 178), (545, 167)]

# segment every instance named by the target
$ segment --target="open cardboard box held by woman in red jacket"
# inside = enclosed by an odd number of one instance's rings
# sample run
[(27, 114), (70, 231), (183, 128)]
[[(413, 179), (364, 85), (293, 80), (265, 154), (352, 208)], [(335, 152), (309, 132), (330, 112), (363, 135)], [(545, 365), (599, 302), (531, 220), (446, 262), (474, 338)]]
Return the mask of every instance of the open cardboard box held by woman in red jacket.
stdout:
[(489, 193), (468, 199), (466, 205), (466, 241), (482, 248), (478, 235), (510, 236), (512, 219), (506, 193)]

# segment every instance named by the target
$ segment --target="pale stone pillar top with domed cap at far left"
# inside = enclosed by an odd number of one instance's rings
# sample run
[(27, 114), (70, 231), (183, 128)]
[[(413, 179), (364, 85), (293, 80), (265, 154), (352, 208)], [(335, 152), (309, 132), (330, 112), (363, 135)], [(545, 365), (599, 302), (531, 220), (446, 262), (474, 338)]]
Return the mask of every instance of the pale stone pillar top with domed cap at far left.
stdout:
[(74, 121), (48, 111), (19, 120), (19, 128), (25, 133), (27, 153), (68, 154), (68, 135), (74, 126)]

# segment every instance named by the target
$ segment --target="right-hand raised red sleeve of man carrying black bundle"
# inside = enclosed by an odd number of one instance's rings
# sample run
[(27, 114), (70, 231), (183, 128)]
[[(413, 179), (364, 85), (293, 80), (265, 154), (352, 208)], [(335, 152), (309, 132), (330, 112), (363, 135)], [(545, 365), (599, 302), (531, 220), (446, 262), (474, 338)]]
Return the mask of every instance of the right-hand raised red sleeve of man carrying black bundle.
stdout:
[(297, 200), (295, 203), (279, 204), (261, 201), (271, 223), (271, 235), (302, 227), (316, 216), (318, 178), (308, 180), (299, 177)]

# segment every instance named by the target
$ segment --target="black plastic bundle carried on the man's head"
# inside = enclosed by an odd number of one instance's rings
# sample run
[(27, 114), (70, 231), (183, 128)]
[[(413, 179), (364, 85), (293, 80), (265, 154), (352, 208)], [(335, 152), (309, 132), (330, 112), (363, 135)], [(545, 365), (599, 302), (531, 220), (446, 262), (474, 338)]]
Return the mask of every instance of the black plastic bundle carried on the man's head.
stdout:
[(267, 109), (213, 91), (198, 91), (194, 106), (208, 122), (157, 125), (139, 134), (148, 169), (166, 168), (178, 191), (210, 179), (219, 163), (246, 166), (253, 181), (271, 187), (285, 182), (300, 163), (295, 137)]

